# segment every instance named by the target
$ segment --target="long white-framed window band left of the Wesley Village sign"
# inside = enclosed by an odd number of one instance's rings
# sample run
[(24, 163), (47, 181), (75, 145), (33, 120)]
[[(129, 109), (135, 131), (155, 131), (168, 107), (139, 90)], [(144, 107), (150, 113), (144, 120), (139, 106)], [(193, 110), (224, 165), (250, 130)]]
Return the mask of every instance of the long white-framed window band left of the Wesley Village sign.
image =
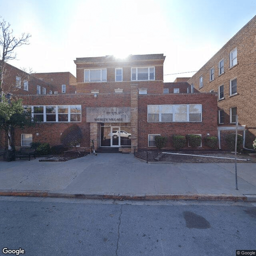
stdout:
[(36, 122), (81, 122), (81, 105), (28, 106)]

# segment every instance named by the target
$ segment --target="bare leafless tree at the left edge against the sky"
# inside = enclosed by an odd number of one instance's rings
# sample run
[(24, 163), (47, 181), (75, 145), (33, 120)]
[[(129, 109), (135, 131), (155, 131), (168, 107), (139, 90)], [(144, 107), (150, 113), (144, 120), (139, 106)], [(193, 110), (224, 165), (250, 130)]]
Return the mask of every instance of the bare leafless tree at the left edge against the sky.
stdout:
[(22, 33), (20, 37), (16, 38), (12, 33), (10, 23), (6, 23), (5, 20), (0, 21), (0, 96), (4, 93), (5, 63), (8, 60), (16, 59), (16, 48), (23, 44), (29, 44), (28, 40), (31, 37), (30, 34)]

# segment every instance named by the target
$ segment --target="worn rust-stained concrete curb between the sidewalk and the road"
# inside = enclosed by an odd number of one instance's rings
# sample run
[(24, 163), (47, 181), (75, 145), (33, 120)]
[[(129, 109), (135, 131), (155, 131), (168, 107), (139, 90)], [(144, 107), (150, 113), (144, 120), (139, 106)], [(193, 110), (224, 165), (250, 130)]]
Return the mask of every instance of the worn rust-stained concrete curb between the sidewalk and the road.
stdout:
[(49, 190), (0, 190), (0, 196), (38, 196), (56, 198), (113, 199), (113, 200), (201, 200), (256, 202), (256, 195), (230, 194), (83, 194), (76, 192), (50, 192)]

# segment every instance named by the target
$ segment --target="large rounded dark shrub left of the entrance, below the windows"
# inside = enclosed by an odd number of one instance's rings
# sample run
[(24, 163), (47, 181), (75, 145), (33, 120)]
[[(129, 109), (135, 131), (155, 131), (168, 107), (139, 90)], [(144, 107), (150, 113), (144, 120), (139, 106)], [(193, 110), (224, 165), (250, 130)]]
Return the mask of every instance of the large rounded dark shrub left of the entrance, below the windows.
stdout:
[(70, 125), (60, 136), (63, 146), (75, 147), (80, 144), (83, 134), (77, 124)]

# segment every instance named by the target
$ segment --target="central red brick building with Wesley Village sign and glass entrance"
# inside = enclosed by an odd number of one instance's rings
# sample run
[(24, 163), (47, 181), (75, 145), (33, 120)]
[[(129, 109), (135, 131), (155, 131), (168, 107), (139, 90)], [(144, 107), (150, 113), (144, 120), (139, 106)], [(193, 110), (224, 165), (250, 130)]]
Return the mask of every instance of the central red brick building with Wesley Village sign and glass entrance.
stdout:
[[(166, 148), (171, 149), (173, 134), (217, 136), (216, 94), (187, 93), (190, 85), (184, 82), (173, 85), (179, 93), (165, 94), (164, 88), (170, 85), (163, 82), (164, 59), (163, 54), (131, 55), (123, 60), (77, 58), (76, 93), (22, 96), (32, 116), (41, 122), (17, 130), (16, 146), (60, 144), (61, 133), (73, 123), (84, 135), (82, 147), (94, 140), (96, 148), (149, 149), (160, 134), (168, 137)], [(202, 140), (200, 149), (204, 148)]]

